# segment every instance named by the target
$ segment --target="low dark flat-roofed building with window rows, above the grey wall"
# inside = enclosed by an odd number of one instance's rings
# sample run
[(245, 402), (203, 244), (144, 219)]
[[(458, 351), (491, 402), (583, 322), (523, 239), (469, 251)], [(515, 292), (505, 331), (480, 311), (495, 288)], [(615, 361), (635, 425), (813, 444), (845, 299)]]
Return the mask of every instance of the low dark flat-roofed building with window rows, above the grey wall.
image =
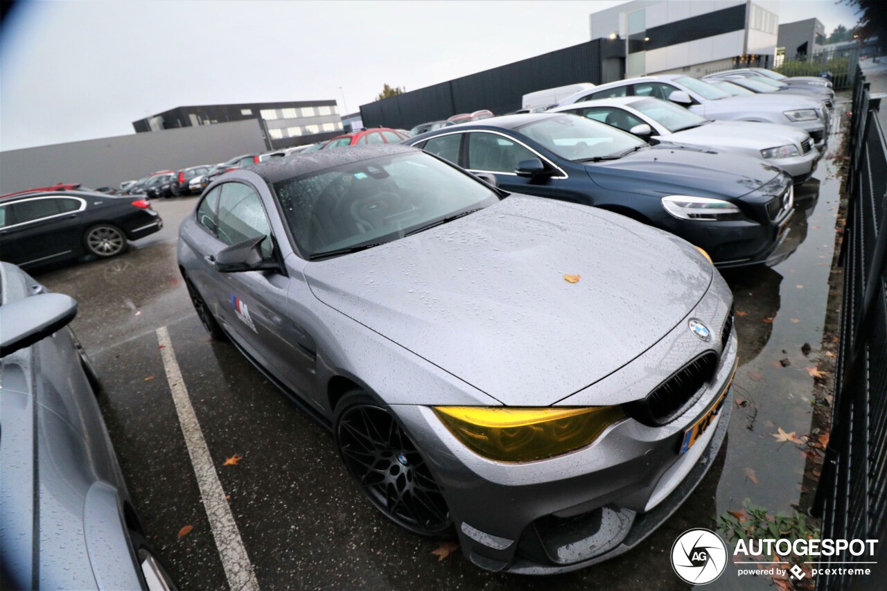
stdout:
[(313, 144), (342, 133), (335, 100), (177, 106), (132, 122), (132, 126), (141, 133), (245, 119), (260, 123), (266, 147), (270, 150)]

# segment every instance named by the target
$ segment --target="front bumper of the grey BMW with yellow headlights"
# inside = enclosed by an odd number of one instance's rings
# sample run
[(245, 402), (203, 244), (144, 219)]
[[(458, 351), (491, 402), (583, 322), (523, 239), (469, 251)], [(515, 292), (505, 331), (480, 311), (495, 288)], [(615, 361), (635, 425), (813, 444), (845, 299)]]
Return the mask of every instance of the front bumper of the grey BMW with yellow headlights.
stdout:
[[(718, 288), (688, 316), (703, 319), (716, 335), (726, 322), (730, 296)], [(557, 406), (589, 406), (599, 390), (643, 395), (663, 375), (640, 378), (655, 367), (668, 374), (696, 351), (718, 351), (717, 338), (702, 343), (681, 322), (663, 341), (608, 379)], [(726, 436), (732, 397), (727, 391), (736, 364), (731, 331), (714, 377), (674, 421), (648, 427), (632, 418), (611, 425), (592, 445), (540, 461), (507, 463), (470, 452), (427, 406), (391, 406), (428, 461), (450, 508), (465, 555), (490, 571), (546, 574), (573, 571), (633, 548), (692, 493)], [(639, 374), (640, 375), (640, 374)], [(621, 377), (620, 377), (621, 376)], [(652, 381), (652, 382), (651, 382)], [(616, 385), (618, 384), (618, 385)], [(625, 385), (628, 384), (628, 385)], [(618, 392), (622, 396), (624, 392)], [(724, 394), (703, 436), (679, 455), (685, 429)], [(598, 404), (601, 404), (598, 402)]]

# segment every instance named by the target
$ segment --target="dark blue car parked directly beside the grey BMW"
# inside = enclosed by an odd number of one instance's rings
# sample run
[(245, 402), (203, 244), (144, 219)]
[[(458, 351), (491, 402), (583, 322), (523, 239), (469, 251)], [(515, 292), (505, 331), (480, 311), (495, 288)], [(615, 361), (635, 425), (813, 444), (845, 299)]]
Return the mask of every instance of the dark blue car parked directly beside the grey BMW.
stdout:
[(572, 114), (517, 114), (403, 142), (506, 191), (608, 209), (677, 234), (718, 267), (770, 263), (794, 212), (791, 177), (758, 159), (651, 146)]

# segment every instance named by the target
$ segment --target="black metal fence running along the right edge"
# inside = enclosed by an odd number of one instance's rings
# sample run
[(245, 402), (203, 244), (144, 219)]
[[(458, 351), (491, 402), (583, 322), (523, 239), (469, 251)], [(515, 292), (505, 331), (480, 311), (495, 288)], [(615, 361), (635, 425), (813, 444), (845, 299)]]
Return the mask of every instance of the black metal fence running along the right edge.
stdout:
[[(855, 82), (841, 247), (840, 349), (831, 435), (814, 512), (822, 516), (823, 539), (880, 539), (883, 546), (887, 543), (887, 142), (877, 117), (880, 101), (872, 97), (861, 70)], [(831, 558), (832, 563), (873, 560), (846, 553)], [(874, 575), (870, 579), (820, 575), (817, 585), (828, 590), (865, 588), (875, 580)]]

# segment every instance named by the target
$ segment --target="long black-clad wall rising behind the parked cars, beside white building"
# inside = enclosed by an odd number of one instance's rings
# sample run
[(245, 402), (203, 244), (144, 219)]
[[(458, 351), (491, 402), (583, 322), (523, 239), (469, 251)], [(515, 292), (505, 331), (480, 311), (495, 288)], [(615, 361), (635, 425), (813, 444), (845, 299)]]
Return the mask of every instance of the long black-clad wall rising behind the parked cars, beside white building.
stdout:
[(481, 109), (504, 114), (521, 108), (522, 96), (533, 91), (573, 83), (600, 84), (604, 59), (623, 55), (624, 43), (595, 39), (361, 105), (360, 114), (366, 127), (384, 125), (407, 130), (419, 123)]

